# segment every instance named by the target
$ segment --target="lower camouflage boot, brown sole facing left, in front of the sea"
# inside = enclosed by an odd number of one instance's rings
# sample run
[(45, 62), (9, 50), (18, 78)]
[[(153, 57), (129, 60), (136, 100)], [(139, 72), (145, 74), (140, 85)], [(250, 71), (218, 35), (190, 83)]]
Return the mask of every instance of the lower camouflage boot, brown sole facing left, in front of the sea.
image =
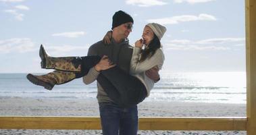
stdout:
[(74, 72), (61, 72), (59, 70), (55, 70), (49, 74), (41, 76), (28, 74), (26, 78), (33, 84), (43, 86), (47, 90), (51, 90), (55, 84), (64, 84), (74, 80), (74, 78), (76, 78), (76, 74)]

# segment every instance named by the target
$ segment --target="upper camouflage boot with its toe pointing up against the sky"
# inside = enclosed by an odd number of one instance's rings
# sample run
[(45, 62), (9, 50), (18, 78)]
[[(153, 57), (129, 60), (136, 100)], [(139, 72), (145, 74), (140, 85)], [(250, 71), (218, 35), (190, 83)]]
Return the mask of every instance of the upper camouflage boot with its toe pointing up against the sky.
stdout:
[(41, 57), (41, 68), (70, 72), (81, 71), (80, 57), (51, 57), (45, 51), (43, 45), (40, 47), (39, 56)]

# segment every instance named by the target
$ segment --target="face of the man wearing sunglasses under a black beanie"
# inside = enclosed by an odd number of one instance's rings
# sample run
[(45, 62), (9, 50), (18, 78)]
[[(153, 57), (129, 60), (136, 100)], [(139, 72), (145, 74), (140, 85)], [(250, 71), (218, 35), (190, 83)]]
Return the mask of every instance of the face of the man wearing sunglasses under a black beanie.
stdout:
[(132, 22), (126, 22), (125, 24), (121, 24), (120, 26), (116, 27), (118, 30), (118, 34), (123, 38), (128, 38), (130, 32), (132, 32)]

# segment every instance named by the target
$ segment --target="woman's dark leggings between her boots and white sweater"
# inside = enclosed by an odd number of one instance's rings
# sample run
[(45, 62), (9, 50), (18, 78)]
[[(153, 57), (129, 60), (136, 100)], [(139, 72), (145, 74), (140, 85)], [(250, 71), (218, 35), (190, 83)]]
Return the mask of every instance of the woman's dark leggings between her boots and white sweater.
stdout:
[[(76, 78), (85, 76), (101, 59), (101, 57), (80, 57), (78, 63), (82, 65), (82, 71), (76, 73)], [(124, 72), (118, 66), (101, 71), (97, 81), (107, 93), (107, 96), (121, 107), (137, 105), (147, 97), (145, 85), (135, 76)]]

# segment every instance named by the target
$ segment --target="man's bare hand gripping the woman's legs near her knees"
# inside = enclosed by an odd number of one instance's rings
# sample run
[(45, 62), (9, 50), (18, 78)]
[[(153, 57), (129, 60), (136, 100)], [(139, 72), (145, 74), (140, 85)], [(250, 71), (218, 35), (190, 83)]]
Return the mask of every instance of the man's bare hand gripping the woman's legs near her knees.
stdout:
[(99, 63), (95, 65), (95, 70), (97, 72), (101, 72), (101, 70), (107, 70), (114, 66), (116, 66), (116, 64), (113, 64), (106, 55), (103, 55), (103, 57), (101, 58), (101, 61), (99, 61)]

